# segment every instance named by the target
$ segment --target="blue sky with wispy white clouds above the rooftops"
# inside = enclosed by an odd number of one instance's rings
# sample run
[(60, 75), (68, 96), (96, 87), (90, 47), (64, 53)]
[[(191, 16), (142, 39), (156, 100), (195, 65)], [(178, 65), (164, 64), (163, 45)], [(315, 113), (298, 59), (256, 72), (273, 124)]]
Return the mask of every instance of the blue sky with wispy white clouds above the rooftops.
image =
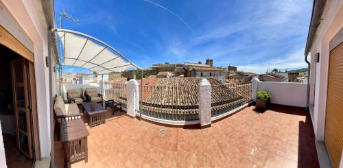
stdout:
[[(241, 71), (307, 67), (304, 49), (312, 0), (55, 1), (80, 19), (64, 21), (103, 40), (140, 67), (164, 62), (235, 65)], [(82, 71), (65, 67), (64, 72)]]

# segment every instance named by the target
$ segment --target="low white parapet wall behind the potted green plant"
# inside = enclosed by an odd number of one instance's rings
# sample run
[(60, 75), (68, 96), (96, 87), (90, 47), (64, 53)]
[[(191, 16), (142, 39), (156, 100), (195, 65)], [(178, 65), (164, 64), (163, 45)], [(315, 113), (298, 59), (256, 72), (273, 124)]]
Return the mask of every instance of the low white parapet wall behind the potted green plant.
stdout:
[(295, 82), (258, 82), (257, 91), (272, 95), (272, 104), (306, 107), (307, 84)]

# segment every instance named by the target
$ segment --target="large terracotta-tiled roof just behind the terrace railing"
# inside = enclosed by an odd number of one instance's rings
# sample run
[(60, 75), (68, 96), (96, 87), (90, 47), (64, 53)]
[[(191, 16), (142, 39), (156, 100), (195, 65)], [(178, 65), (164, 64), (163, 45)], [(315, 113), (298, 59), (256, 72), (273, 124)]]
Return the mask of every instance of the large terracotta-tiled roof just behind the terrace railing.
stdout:
[[(143, 84), (143, 110), (174, 115), (197, 115), (200, 80), (200, 77), (157, 78), (154, 82)], [(243, 97), (220, 81), (211, 77), (207, 80), (212, 85), (213, 109), (244, 103)]]

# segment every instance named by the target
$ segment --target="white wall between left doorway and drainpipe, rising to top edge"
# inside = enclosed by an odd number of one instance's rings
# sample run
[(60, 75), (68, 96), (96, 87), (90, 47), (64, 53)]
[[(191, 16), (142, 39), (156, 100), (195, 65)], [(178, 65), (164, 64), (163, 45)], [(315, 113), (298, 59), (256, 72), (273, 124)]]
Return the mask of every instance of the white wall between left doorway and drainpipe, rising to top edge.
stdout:
[[(40, 139), (40, 155), (49, 157), (50, 146), (50, 113), (49, 113), (49, 71), (45, 66), (47, 56), (47, 25), (40, 1), (2, 0), (5, 8), (16, 20), (23, 32), (33, 43), (33, 48), (25, 38), (18, 38), (25, 47), (33, 49), (36, 76), (36, 97), (38, 100), (38, 130)], [(1, 15), (2, 18), (2, 15)], [(6, 23), (10, 24), (10, 23)], [(20, 34), (17, 34), (20, 35)]]

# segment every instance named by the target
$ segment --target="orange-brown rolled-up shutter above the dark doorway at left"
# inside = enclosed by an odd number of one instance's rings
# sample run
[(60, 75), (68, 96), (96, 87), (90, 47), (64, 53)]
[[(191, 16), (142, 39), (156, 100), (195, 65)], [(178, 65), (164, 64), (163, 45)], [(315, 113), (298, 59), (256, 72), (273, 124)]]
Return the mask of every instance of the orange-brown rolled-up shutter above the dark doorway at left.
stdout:
[(27, 60), (34, 62), (34, 53), (29, 51), (23, 44), (20, 43), (10, 32), (0, 25), (0, 44), (5, 45), (9, 49), (23, 56)]

